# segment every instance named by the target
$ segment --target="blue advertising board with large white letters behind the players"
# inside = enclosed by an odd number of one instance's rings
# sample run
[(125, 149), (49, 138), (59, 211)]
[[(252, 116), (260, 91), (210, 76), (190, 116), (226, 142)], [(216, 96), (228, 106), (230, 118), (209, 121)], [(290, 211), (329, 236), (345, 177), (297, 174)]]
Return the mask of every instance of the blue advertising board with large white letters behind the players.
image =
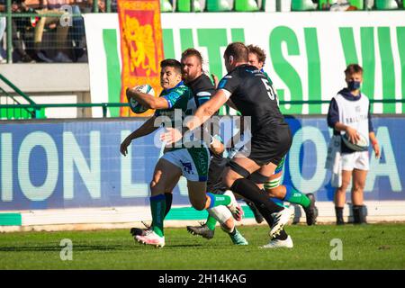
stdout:
[[(160, 146), (154, 145), (159, 132), (133, 141), (127, 157), (119, 152), (121, 140), (143, 121), (4, 121), (0, 126), (0, 211), (32, 211), (26, 214), (32, 217), (47, 214), (25, 223), (23, 217), (22, 225), (68, 224), (75, 217), (58, 218), (58, 212), (83, 209), (128, 211), (128, 217), (115, 212), (116, 218), (106, 217), (105, 223), (108, 219), (149, 219), (148, 182), (160, 153)], [(333, 213), (333, 188), (324, 168), (331, 133), (325, 116), (288, 117), (287, 121), (293, 131), (293, 146), (285, 161), (284, 183), (315, 193), (324, 207), (320, 215), (328, 216)], [(393, 218), (381, 220), (399, 220), (405, 216), (405, 166), (401, 165), (405, 162), (405, 117), (374, 115), (373, 122), (383, 158), (370, 158), (365, 202), (373, 202), (369, 215), (382, 215), (378, 213), (383, 207), (388, 211), (385, 215)], [(223, 130), (230, 131), (225, 126)], [(386, 206), (388, 203), (391, 206)], [(175, 187), (173, 204), (175, 208), (190, 206), (184, 178)], [(83, 215), (80, 223), (98, 222), (92, 213)]]

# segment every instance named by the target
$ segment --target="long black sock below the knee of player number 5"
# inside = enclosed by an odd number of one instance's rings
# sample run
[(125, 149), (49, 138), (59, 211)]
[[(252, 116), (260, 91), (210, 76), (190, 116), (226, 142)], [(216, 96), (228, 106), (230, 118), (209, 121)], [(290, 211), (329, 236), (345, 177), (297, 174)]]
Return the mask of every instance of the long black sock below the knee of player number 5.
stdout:
[(266, 193), (263, 193), (262, 190), (257, 187), (257, 184), (246, 178), (240, 178), (236, 180), (230, 187), (230, 190), (232, 190), (234, 193), (238, 193), (251, 202), (254, 202), (259, 211), (261, 211), (259, 208), (265, 208), (267, 211), (270, 212), (270, 214), (272, 214), (284, 209), (275, 204), (275, 202), (273, 202), (266, 195)]

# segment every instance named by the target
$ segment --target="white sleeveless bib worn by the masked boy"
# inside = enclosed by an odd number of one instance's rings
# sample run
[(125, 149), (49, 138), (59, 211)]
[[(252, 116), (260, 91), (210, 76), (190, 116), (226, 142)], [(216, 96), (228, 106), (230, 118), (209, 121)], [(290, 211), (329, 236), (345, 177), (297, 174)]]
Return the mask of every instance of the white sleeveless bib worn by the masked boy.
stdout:
[[(357, 101), (350, 101), (342, 94), (335, 96), (335, 100), (338, 103), (339, 122), (356, 129), (358, 133), (365, 136), (368, 145), (368, 111), (370, 102), (365, 94), (360, 94), (359, 97), (360, 99)], [(340, 131), (340, 133), (344, 134), (345, 132)]]

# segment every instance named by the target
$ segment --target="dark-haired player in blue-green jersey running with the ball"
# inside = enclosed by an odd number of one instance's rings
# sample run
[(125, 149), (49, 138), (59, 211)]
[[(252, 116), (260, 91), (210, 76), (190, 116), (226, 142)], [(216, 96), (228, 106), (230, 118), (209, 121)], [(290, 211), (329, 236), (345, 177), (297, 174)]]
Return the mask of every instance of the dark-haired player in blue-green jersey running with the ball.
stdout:
[[(159, 97), (139, 93), (136, 88), (127, 89), (128, 97), (133, 97), (145, 108), (156, 109), (157, 112), (138, 130), (134, 130), (122, 141), (120, 151), (123, 156), (127, 155), (127, 148), (133, 139), (146, 136), (157, 130), (158, 125), (155, 124), (155, 121), (157, 121), (158, 116), (168, 117), (171, 125), (175, 126), (179, 124), (175, 123), (175, 109), (181, 109), (184, 114), (192, 113), (196, 109), (193, 93), (182, 81), (181, 63), (175, 59), (165, 59), (160, 63), (160, 67), (160, 85), (163, 91)], [(181, 175), (187, 179), (189, 199), (196, 210), (201, 211), (218, 205), (227, 205), (230, 211), (235, 214), (239, 213), (240, 207), (232, 193), (229, 192), (224, 195), (206, 193), (210, 164), (208, 148), (201, 142), (196, 143), (197, 145), (184, 146), (184, 141), (182, 145), (172, 145), (170, 148), (166, 148), (164, 155), (157, 162), (150, 183), (151, 229), (146, 230), (142, 235), (135, 236), (139, 243), (156, 247), (165, 246), (163, 228), (167, 212), (166, 193), (172, 193)], [(190, 139), (189, 141), (193, 140)]]

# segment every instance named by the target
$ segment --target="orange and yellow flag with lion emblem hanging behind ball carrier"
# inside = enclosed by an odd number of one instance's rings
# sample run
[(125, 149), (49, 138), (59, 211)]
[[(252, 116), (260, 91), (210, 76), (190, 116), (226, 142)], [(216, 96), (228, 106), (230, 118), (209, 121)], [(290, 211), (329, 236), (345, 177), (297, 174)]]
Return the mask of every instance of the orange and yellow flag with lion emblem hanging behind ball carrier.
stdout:
[[(127, 87), (148, 84), (160, 94), (160, 61), (163, 60), (160, 0), (118, 0), (121, 31), (121, 103), (127, 103)], [(149, 116), (153, 111), (134, 114), (121, 107), (121, 116)]]

